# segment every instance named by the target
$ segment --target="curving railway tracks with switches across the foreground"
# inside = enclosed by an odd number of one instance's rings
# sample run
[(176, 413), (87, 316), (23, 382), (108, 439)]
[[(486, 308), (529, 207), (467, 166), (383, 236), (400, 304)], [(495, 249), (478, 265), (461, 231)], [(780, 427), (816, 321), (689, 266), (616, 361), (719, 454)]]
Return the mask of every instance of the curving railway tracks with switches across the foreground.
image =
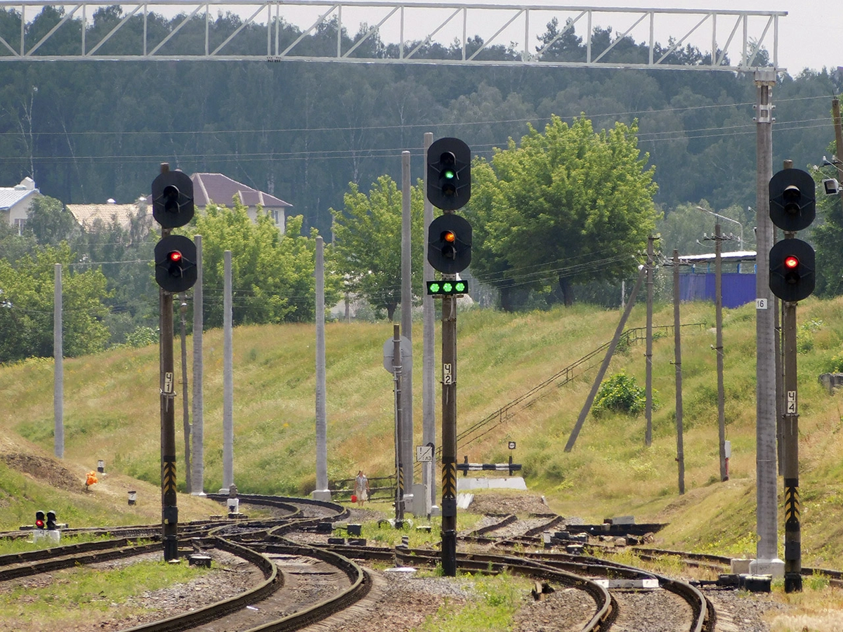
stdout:
[[(224, 502), (227, 496), (212, 495), (212, 498)], [(374, 562), (431, 567), (441, 563), (441, 553), (437, 549), (328, 545), (327, 536), (331, 534), (333, 523), (349, 517), (348, 510), (335, 503), (261, 495), (240, 495), (239, 498), (244, 506), (262, 506), (271, 517), (185, 523), (180, 525), (180, 553), (185, 556), (204, 554), (212, 558), (228, 556), (228, 559), (239, 560), (240, 564), (250, 565), (256, 579), (248, 590), (169, 619), (137, 625), (126, 632), (211, 632), (221, 629), (286, 632), (303, 629), (348, 611), (355, 603), (362, 603), (373, 586), (384, 581), (379, 573), (369, 570)], [(510, 572), (539, 582), (536, 586), (555, 587), (556, 595), (552, 598), (567, 608), (566, 630), (713, 632), (715, 629), (717, 613), (711, 600), (706, 598), (704, 591), (686, 581), (590, 555), (545, 550), (540, 533), (558, 528), (564, 522), (561, 517), (537, 514), (519, 520), (513, 515), (500, 515), (487, 517), (484, 522), (486, 524), (481, 528), (460, 534), (463, 544), (458, 554), (458, 568), (471, 573)], [(3, 555), (0, 556), (0, 581), (78, 564), (126, 559), (162, 549), (158, 525), (78, 529), (72, 533), (110, 533), (111, 536), (132, 533), (142, 534), (147, 539), (137, 542), (129, 537), (111, 537)], [(307, 543), (297, 541), (303, 533), (309, 533)], [(10, 537), (18, 537), (18, 534)], [(649, 547), (631, 549), (642, 559), (677, 555), (686, 563), (711, 570), (728, 568), (728, 558), (721, 556)], [(840, 572), (824, 572), (831, 581), (843, 582)], [(619, 584), (617, 580), (620, 579), (648, 580), (652, 587), (631, 589), (629, 586), (637, 585)], [(540, 588), (538, 592), (542, 592)], [(372, 598), (377, 598), (377, 590)], [(396, 604), (396, 608), (400, 605)]]

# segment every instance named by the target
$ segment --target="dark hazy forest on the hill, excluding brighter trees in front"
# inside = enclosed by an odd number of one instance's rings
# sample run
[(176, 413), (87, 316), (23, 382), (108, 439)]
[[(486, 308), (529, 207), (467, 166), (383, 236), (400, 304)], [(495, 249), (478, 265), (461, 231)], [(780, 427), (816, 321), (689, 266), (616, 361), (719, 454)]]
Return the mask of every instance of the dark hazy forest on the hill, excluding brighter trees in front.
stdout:
[[(89, 17), (87, 38), (99, 41), (122, 19), (121, 8)], [(45, 8), (26, 27), (26, 40), (40, 40), (58, 24), (62, 8)], [(151, 38), (180, 18), (150, 18)], [(220, 14), (209, 25), (222, 42), (241, 20)], [(301, 35), (282, 23), (282, 43)], [(81, 22), (70, 19), (39, 49), (40, 54), (76, 51)], [(143, 23), (135, 16), (103, 54), (136, 51)], [(360, 32), (342, 33), (347, 50)], [(554, 22), (535, 42), (540, 50), (559, 34)], [(170, 40), (195, 49), (205, 21), (191, 19)], [(123, 33), (123, 30), (121, 30)], [(195, 41), (191, 40), (191, 34)], [(19, 15), (0, 11), (0, 35), (19, 39)], [(186, 37), (185, 37), (186, 36)], [(595, 29), (592, 54), (612, 40), (610, 26)], [(414, 43), (415, 44), (415, 43)], [(482, 41), (469, 41), (469, 52)], [(668, 42), (665, 51), (672, 45)], [(228, 46), (266, 51), (266, 27), (248, 25)], [(302, 54), (336, 49), (336, 23), (307, 35)], [(237, 48), (239, 47), (239, 48)], [(228, 50), (228, 49), (227, 49)], [(372, 37), (352, 55), (397, 56), (395, 45)], [(429, 43), (417, 56), (461, 56), (459, 46)], [(514, 59), (516, 51), (491, 46), (485, 59)], [(569, 31), (546, 58), (585, 58), (583, 38)], [(626, 38), (609, 51), (612, 62), (642, 62), (647, 47)], [(672, 62), (694, 66), (708, 53), (679, 48)], [(764, 61), (764, 51), (761, 51)], [(0, 67), (0, 159), (4, 185), (26, 175), (46, 195), (64, 203), (114, 198), (130, 202), (148, 193), (158, 163), (193, 172), (219, 172), (293, 204), (305, 227), (330, 238), (331, 206), (341, 205), (349, 182), (368, 187), (379, 176), (398, 179), (400, 153), (414, 154), (421, 177), (421, 138), (456, 136), (475, 154), (491, 158), (493, 147), (520, 138), (527, 123), (545, 126), (585, 114), (597, 129), (638, 121), (642, 151), (656, 167), (658, 205), (670, 210), (706, 199), (715, 208), (754, 205), (755, 88), (752, 77), (732, 72), (554, 69), (541, 67), (400, 66), (261, 62), (13, 62)], [(776, 87), (774, 164), (791, 158), (797, 167), (821, 160), (831, 136), (830, 95), (841, 79), (829, 72), (803, 72)]]

